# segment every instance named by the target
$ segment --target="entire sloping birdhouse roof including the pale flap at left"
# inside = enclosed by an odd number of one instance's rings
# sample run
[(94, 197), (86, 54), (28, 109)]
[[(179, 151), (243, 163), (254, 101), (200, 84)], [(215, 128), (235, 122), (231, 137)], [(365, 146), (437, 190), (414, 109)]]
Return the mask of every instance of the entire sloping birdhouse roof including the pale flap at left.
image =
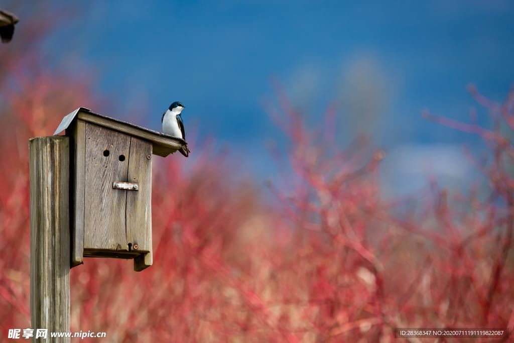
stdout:
[(139, 125), (107, 117), (102, 114), (94, 113), (85, 107), (79, 107), (77, 110), (66, 115), (53, 135), (57, 135), (66, 130), (75, 119), (80, 119), (107, 129), (150, 141), (153, 146), (153, 154), (162, 157), (166, 157), (169, 154), (174, 153), (182, 146), (187, 144), (186, 141), (181, 138), (146, 129), (140, 127)]

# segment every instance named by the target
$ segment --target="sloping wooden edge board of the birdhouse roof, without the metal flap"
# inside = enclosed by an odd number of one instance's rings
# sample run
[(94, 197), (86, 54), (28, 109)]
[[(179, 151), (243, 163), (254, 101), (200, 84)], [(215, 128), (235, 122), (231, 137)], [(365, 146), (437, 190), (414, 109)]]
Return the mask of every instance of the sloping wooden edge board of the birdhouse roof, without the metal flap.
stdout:
[(162, 157), (166, 157), (171, 153), (176, 152), (183, 145), (185, 141), (179, 138), (167, 137), (158, 133), (153, 133), (143, 128), (137, 128), (133, 125), (125, 124), (119, 121), (112, 120), (100, 115), (79, 112), (78, 118), (85, 120), (90, 123), (100, 125), (105, 128), (109, 128), (118, 132), (126, 133), (131, 136), (137, 136), (139, 138), (152, 142), (153, 153)]

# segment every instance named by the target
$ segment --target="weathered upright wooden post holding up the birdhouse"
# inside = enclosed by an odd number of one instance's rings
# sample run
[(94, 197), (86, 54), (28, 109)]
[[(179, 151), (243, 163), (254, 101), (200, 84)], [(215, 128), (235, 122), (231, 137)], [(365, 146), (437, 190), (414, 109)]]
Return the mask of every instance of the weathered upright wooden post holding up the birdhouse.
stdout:
[[(69, 331), (69, 138), (32, 138), (29, 169), (32, 329)], [(69, 342), (70, 338), (48, 335), (32, 341)]]

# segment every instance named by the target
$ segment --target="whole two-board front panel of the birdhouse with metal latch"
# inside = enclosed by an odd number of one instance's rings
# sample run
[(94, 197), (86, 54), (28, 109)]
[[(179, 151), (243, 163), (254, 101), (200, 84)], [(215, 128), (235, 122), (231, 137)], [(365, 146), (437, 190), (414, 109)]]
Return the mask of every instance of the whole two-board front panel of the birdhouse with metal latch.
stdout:
[(152, 144), (85, 125), (84, 256), (151, 251)]

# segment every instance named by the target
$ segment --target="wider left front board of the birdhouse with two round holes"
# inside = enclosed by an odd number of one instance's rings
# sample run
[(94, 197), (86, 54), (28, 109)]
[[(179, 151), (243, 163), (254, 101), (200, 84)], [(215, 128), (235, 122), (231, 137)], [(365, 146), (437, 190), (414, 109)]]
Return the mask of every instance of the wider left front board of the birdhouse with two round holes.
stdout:
[(131, 137), (91, 123), (85, 132), (84, 256), (88, 249), (128, 251), (126, 191), (113, 189), (113, 182), (127, 178)]

